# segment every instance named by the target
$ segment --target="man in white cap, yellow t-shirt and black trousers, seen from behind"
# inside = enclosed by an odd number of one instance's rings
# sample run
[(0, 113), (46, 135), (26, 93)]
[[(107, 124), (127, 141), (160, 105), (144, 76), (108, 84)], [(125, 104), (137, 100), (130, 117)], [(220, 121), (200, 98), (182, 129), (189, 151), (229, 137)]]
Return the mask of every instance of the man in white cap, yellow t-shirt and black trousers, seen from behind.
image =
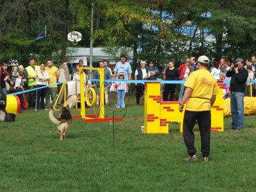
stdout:
[(186, 162), (197, 161), (196, 148), (194, 147), (195, 134), (193, 132), (196, 120), (201, 136), (203, 161), (209, 160), (211, 107), (219, 92), (216, 79), (207, 70), (209, 58), (200, 56), (197, 60), (197, 67), (199, 70), (192, 72), (184, 84), (186, 91), (179, 106), (179, 110), (182, 111), (184, 103), (188, 101), (183, 120), (183, 138), (188, 151), (188, 157), (184, 159)]

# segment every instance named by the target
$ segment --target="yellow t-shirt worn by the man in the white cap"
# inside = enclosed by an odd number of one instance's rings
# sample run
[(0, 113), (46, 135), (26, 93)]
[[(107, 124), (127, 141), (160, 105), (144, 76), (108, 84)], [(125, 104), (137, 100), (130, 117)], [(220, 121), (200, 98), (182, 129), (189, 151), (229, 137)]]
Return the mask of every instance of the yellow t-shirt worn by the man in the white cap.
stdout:
[(186, 104), (186, 110), (211, 110), (212, 95), (219, 93), (219, 87), (216, 79), (208, 70), (200, 69), (191, 73), (184, 86), (193, 89)]

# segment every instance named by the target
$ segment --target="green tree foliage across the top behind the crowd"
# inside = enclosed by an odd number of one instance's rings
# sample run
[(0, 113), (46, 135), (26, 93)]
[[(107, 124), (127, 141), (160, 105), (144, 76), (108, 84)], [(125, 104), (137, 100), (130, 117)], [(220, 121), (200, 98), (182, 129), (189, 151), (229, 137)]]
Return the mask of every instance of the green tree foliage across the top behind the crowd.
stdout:
[[(68, 3), (69, 20), (63, 22), (67, 14), (63, 0), (1, 1), (0, 59), (12, 58), (24, 63), (31, 54), (38, 60), (51, 57), (61, 49), (64, 25), (68, 32), (82, 33), (78, 46), (89, 47), (92, 3), (93, 46), (113, 44), (138, 49), (138, 53), (134, 52), (136, 60), (165, 63), (174, 59), (181, 63), (184, 58), (202, 54), (213, 60), (221, 56), (250, 58), (256, 53), (254, 0), (70, 0)], [(212, 17), (202, 17), (205, 13), (211, 13)], [(47, 36), (34, 41), (44, 26)], [(184, 29), (193, 26), (196, 31), (190, 35), (184, 33)]]

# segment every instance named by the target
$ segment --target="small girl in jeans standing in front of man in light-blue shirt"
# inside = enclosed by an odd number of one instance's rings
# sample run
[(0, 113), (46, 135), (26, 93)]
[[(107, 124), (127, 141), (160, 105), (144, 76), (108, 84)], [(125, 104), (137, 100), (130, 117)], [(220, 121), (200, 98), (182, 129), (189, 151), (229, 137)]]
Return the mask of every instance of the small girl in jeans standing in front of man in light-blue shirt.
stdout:
[[(120, 72), (119, 76), (118, 76), (119, 80), (124, 80), (124, 73)], [(125, 81), (120, 81), (116, 83), (116, 90), (117, 90), (117, 95), (118, 95), (118, 99), (117, 99), (117, 104), (116, 104), (116, 108), (125, 108), (125, 104), (124, 104), (124, 96), (125, 96), (125, 92), (126, 92), (126, 83)]]

